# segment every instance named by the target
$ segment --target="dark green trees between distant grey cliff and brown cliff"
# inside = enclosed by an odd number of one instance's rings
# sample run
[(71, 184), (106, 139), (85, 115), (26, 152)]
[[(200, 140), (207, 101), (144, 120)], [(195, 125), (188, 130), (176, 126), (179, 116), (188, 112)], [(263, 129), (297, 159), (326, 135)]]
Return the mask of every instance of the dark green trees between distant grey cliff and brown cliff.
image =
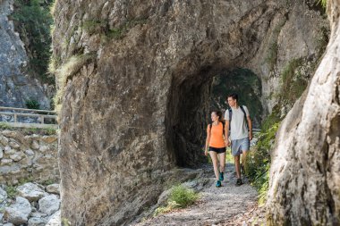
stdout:
[(47, 74), (50, 58), (50, 29), (53, 19), (50, 6), (53, 0), (14, 0), (12, 19), (16, 29), (21, 34), (21, 40), (26, 40), (26, 51), (29, 55), (29, 71), (48, 84), (55, 84), (54, 77)]

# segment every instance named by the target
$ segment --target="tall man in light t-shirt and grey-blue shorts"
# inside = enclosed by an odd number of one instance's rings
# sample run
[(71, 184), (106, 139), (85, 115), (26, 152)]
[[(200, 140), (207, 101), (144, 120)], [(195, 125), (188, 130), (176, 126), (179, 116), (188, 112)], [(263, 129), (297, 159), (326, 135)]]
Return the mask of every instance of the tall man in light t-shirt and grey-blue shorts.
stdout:
[(227, 101), (230, 109), (225, 111), (225, 145), (230, 146), (230, 135), (237, 175), (236, 186), (240, 186), (242, 185), (240, 155), (242, 154), (242, 170), (244, 170), (243, 165), (245, 164), (252, 139), (251, 117), (246, 106), (238, 105), (237, 94), (229, 95)]

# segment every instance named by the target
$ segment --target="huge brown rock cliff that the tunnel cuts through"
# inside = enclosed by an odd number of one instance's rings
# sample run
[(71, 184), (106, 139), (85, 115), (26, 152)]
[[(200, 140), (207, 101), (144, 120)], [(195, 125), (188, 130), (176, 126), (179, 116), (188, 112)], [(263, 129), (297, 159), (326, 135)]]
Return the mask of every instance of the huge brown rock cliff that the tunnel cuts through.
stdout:
[[(200, 162), (212, 77), (249, 68), (276, 91), (269, 71), (314, 59), (315, 40), (300, 38), (323, 26), (302, 1), (58, 0), (55, 12), (62, 215), (74, 225), (131, 221), (168, 170)], [(285, 58), (265, 60), (273, 42)]]

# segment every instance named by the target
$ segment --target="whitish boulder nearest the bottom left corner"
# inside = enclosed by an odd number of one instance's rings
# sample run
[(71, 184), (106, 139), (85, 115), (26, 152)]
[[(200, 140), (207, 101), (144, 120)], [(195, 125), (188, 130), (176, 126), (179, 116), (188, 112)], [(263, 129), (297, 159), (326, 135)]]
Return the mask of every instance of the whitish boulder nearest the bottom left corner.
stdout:
[(30, 211), (30, 202), (26, 198), (16, 197), (13, 205), (4, 208), (4, 219), (13, 224), (20, 225), (28, 221)]

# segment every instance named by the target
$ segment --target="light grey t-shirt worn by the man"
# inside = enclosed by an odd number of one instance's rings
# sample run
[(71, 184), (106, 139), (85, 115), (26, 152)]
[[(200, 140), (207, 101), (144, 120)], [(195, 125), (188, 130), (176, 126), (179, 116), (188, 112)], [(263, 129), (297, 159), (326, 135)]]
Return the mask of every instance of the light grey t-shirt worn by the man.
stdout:
[[(249, 116), (249, 111), (246, 106), (243, 106), (244, 112), (247, 116)], [(232, 107), (232, 123), (230, 125), (230, 139), (240, 139), (240, 138), (248, 138), (248, 129), (247, 129), (247, 121), (244, 119), (244, 113), (241, 110), (241, 107), (233, 108)], [(229, 121), (229, 111), (225, 111), (225, 120)]]

